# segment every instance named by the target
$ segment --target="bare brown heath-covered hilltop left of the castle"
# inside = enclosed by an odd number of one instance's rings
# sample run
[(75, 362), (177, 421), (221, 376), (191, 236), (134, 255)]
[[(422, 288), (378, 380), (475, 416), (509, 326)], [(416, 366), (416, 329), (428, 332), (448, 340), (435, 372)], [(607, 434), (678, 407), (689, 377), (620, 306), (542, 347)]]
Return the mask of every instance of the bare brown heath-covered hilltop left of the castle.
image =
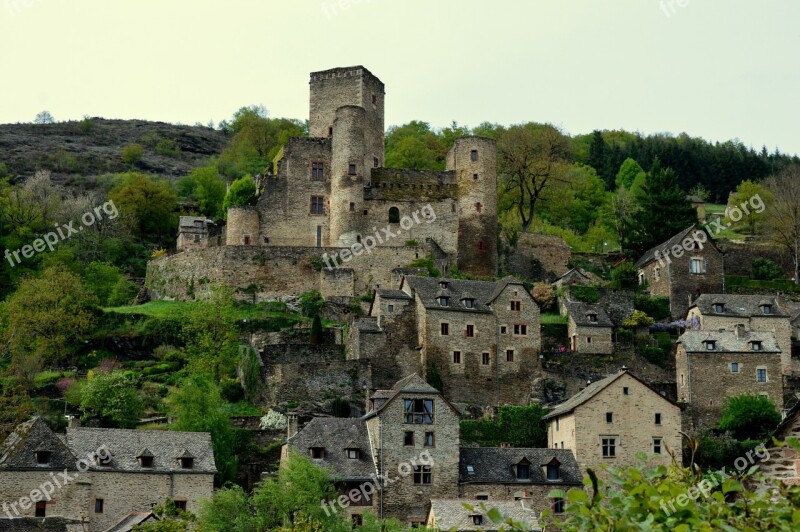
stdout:
[[(87, 118), (55, 124), (0, 125), (0, 163), (12, 176), (50, 170), (55, 181), (91, 187), (92, 176), (137, 170), (177, 178), (219, 155), (228, 142), (220, 131), (145, 120)], [(122, 150), (141, 144), (142, 159), (122, 160)]]

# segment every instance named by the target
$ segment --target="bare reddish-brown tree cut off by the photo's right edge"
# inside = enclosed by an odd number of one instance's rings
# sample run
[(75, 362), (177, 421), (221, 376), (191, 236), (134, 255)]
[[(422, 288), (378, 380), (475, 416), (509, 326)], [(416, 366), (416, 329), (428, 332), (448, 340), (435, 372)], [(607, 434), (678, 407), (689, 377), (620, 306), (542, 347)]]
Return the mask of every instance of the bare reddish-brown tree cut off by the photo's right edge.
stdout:
[(767, 232), (792, 259), (800, 284), (800, 166), (791, 165), (764, 181), (774, 196), (767, 206)]

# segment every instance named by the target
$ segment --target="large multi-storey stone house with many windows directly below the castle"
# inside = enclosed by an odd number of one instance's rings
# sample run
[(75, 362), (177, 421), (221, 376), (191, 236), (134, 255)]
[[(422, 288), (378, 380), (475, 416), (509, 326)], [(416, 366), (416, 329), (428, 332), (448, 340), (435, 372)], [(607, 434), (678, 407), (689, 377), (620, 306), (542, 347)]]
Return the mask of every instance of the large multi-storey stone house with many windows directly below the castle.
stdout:
[(539, 372), (539, 306), (512, 277), (497, 282), (407, 276), (378, 289), (350, 329), (348, 357), (368, 359), (373, 387), (417, 372), (455, 403), (528, 404)]

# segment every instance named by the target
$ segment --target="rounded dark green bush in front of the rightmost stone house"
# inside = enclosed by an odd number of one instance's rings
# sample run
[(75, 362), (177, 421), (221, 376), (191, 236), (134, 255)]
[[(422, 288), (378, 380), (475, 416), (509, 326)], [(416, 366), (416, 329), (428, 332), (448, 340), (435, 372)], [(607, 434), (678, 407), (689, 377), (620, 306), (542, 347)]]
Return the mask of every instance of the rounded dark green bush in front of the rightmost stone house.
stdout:
[(780, 422), (781, 415), (769, 398), (737, 395), (725, 400), (719, 428), (731, 432), (738, 440), (761, 439), (769, 436)]

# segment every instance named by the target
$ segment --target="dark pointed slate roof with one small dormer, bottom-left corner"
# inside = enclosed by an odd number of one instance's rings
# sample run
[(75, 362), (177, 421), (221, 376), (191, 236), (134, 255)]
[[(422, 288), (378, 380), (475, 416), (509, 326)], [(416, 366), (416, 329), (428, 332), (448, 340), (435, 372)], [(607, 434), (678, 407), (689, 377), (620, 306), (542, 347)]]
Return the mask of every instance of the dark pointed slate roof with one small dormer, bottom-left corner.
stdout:
[[(36, 463), (36, 451), (49, 451), (48, 465)], [(75, 454), (41, 418), (20, 423), (8, 435), (0, 450), (0, 469), (69, 469), (77, 468)]]

